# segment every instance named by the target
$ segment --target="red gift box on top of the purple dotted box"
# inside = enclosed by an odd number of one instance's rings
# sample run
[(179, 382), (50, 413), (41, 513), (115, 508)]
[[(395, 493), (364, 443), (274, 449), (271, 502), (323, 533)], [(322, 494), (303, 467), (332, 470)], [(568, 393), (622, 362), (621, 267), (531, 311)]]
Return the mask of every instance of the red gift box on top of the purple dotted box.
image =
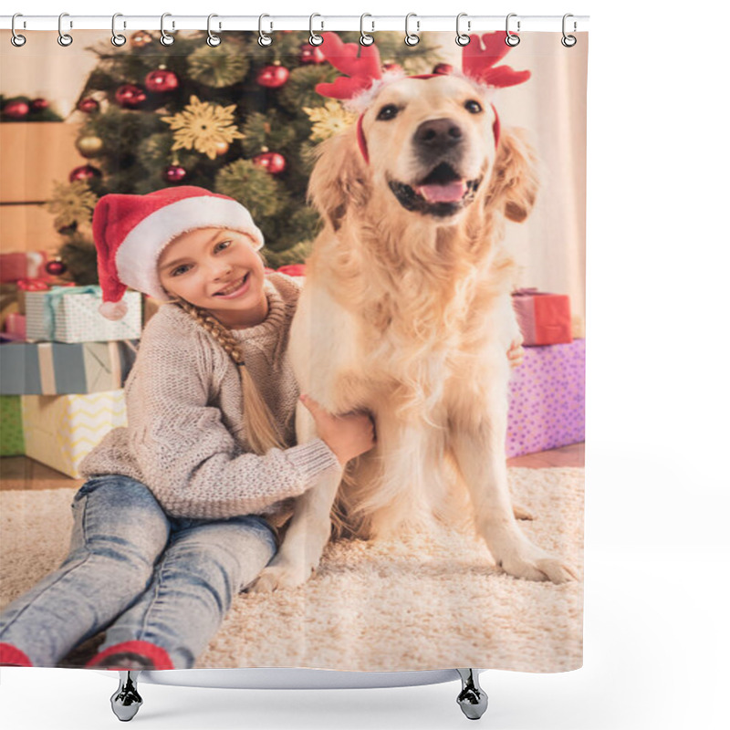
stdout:
[(573, 341), (570, 297), (537, 289), (517, 289), (512, 295), (524, 345), (560, 345)]

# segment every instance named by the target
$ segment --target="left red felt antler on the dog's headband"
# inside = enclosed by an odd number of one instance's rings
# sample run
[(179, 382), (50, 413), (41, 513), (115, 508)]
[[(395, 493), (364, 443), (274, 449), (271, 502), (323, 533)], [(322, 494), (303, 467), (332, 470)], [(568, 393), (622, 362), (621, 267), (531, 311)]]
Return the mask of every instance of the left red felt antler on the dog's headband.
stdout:
[(348, 77), (340, 76), (331, 84), (318, 84), (315, 91), (332, 99), (352, 99), (372, 82), (382, 77), (381, 54), (373, 43), (360, 46), (357, 43), (343, 43), (337, 33), (323, 33), (324, 42), (319, 49), (329, 63)]

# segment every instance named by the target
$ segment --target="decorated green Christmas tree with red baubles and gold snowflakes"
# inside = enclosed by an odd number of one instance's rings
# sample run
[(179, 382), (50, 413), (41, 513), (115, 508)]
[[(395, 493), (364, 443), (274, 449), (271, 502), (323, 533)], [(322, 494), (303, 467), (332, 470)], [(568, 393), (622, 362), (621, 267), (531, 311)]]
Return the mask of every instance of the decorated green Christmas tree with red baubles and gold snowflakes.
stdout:
[[(308, 255), (320, 226), (306, 203), (313, 152), (355, 120), (315, 91), (339, 72), (308, 33), (280, 31), (266, 48), (255, 33), (226, 34), (217, 47), (206, 37), (180, 33), (164, 47), (138, 31), (125, 47), (89, 48), (99, 61), (77, 102), (87, 114), (77, 147), (89, 163), (57, 183), (48, 203), (67, 237), (59, 254), (68, 278), (79, 284), (97, 280), (90, 221), (99, 197), (176, 184), (245, 204), (264, 233), (269, 266)], [(406, 47), (402, 34), (379, 33), (377, 45), (385, 68), (424, 73), (438, 61), (426, 39)]]

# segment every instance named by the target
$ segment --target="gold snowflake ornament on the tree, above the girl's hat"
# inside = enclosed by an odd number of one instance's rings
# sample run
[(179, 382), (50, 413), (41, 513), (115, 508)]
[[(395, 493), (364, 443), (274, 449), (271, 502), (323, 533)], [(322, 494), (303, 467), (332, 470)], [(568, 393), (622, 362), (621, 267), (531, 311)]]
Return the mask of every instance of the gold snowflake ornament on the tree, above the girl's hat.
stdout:
[(221, 142), (231, 143), (243, 139), (244, 135), (235, 129), (235, 104), (222, 107), (196, 96), (190, 98), (183, 111), (173, 117), (162, 117), (174, 130), (175, 143), (172, 151), (195, 150), (214, 160), (220, 151)]

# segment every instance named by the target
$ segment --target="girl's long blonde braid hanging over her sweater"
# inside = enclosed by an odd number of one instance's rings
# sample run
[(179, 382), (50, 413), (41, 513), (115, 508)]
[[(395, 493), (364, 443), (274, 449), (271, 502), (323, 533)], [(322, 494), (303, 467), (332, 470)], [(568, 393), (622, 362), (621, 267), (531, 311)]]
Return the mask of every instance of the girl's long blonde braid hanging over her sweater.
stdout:
[(187, 312), (216, 342), (228, 353), (238, 367), (241, 376), (241, 390), (244, 394), (244, 423), (248, 443), (255, 454), (263, 455), (269, 449), (286, 448), (279, 433), (274, 417), (266, 406), (266, 401), (255, 386), (251, 373), (245, 367), (244, 350), (235, 339), (230, 329), (221, 324), (218, 319), (207, 310), (195, 307), (180, 297), (172, 297), (172, 304)]

